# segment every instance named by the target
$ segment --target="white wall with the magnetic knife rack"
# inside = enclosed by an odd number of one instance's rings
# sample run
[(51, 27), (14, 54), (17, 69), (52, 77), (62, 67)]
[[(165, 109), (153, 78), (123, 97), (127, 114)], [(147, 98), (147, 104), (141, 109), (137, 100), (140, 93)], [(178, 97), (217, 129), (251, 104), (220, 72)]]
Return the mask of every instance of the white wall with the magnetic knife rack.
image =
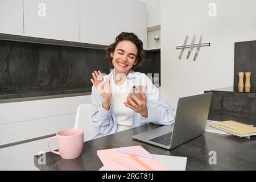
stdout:
[[(209, 3), (216, 3), (217, 16), (210, 17)], [(183, 0), (161, 1), (161, 78), (166, 100), (176, 108), (179, 97), (203, 93), (204, 90), (233, 86), (234, 42), (256, 40), (255, 0)], [(193, 49), (187, 60), (185, 49), (178, 59), (185, 36), (200, 35), (203, 43), (195, 62)]]

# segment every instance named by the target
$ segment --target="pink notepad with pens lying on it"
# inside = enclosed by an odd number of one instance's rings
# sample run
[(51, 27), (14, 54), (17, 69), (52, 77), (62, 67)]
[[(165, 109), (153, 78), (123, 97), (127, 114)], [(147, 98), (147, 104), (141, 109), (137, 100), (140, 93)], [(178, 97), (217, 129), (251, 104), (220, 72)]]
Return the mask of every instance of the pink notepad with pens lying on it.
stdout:
[[(129, 150), (133, 152), (138, 152), (146, 155), (150, 155), (148, 151), (146, 151), (142, 146), (131, 146), (131, 147), (121, 147), (120, 149)], [(106, 149), (106, 150), (98, 150), (97, 155), (100, 158), (102, 164), (105, 166), (106, 170), (109, 171), (129, 171), (131, 169), (127, 168), (127, 166), (133, 167), (134, 169), (139, 169), (142, 171), (147, 171), (146, 168), (141, 166), (141, 164), (137, 163), (134, 159), (132, 159), (128, 154), (122, 154), (116, 151), (116, 148)], [(142, 160), (145, 164), (154, 169), (154, 171), (167, 171), (169, 170), (166, 166), (160, 163), (157, 159), (147, 159), (143, 157), (137, 156)], [(114, 160), (113, 160), (114, 159)], [(121, 163), (127, 164), (122, 165), (117, 161), (120, 160)]]

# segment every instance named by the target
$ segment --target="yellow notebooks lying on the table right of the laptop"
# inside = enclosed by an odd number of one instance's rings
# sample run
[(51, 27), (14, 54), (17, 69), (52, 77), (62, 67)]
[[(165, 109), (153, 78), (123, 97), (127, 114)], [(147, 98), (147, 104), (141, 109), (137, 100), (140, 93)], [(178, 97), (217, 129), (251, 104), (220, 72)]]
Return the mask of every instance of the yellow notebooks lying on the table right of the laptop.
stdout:
[(256, 135), (256, 127), (246, 125), (246, 124), (243, 124), (240, 122), (232, 121), (232, 120), (222, 121), (220, 123), (223, 125), (234, 127), (234, 128), (236, 128), (236, 130), (230, 129), (229, 127), (226, 127), (226, 126), (217, 125), (214, 123), (210, 123), (209, 126), (214, 127), (219, 130), (222, 130), (222, 131), (226, 131), (227, 133), (236, 135), (237, 137), (249, 137), (252, 135)]

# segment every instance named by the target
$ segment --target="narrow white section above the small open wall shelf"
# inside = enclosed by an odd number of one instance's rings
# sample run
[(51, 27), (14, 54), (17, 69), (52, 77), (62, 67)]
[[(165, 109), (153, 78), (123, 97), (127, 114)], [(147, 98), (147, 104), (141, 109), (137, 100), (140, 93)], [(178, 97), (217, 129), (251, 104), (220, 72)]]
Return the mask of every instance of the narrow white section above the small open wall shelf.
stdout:
[(160, 0), (139, 0), (147, 4), (147, 26), (161, 24)]

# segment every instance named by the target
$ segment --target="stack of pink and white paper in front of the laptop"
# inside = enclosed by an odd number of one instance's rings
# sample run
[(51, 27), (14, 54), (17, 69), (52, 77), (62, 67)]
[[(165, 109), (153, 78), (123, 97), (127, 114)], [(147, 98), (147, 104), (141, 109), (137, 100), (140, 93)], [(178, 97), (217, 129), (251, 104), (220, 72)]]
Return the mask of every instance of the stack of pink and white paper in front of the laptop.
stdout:
[[(122, 147), (120, 149), (137, 152), (139, 154), (151, 155), (141, 146)], [(122, 154), (117, 152), (116, 148), (99, 150), (97, 151), (97, 155), (100, 158), (102, 164), (104, 164), (104, 167), (102, 167), (100, 170), (127, 171), (130, 170), (129, 168), (127, 168), (127, 165), (133, 167), (136, 170), (147, 170), (141, 164), (133, 160), (128, 154)], [(165, 155), (152, 156), (154, 157), (153, 159), (147, 159), (140, 156), (138, 156), (138, 158), (143, 163), (147, 164), (147, 166), (150, 166), (152, 169), (154, 169), (154, 171), (185, 170), (187, 158)], [(122, 165), (122, 163), (117, 163), (113, 159), (121, 160), (121, 162), (126, 165)]]

